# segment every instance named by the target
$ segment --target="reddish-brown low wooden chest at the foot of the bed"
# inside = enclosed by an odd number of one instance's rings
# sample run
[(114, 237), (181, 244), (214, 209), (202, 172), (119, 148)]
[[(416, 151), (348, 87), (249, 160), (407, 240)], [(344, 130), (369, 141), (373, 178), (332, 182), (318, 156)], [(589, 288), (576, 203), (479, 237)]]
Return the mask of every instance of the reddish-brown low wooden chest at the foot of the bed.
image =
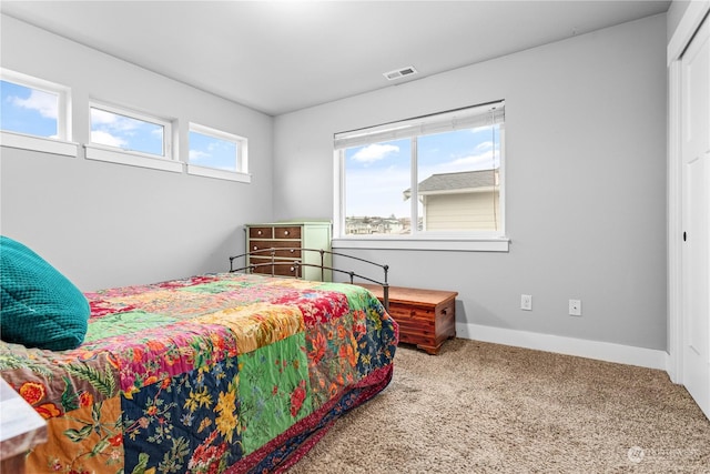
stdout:
[[(358, 284), (383, 301), (381, 285)], [(389, 315), (399, 324), (399, 342), (438, 354), (444, 341), (456, 337), (456, 296), (454, 291), (389, 286)]]

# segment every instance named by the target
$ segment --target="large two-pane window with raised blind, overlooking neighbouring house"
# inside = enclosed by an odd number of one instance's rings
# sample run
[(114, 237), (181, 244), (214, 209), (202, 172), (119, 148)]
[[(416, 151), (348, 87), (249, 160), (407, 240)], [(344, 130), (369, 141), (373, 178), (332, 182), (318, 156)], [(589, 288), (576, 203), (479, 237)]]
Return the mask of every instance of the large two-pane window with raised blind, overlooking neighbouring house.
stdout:
[(500, 238), (504, 103), (335, 137), (341, 238)]

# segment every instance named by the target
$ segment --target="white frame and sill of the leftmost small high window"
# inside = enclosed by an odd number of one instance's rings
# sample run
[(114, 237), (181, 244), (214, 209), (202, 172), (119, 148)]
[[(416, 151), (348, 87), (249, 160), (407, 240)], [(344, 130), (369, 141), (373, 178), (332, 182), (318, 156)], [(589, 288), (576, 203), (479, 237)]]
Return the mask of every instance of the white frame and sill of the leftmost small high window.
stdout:
[(71, 88), (33, 75), (0, 68), (0, 80), (57, 95), (57, 138), (0, 130), (2, 147), (77, 158), (79, 144), (72, 142)]

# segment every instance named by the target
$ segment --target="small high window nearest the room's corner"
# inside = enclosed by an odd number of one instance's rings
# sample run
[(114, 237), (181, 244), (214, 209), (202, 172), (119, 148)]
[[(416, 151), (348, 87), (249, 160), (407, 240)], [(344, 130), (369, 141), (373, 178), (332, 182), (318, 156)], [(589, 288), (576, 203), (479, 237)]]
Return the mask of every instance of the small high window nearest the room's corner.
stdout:
[(189, 139), (189, 173), (247, 181), (247, 140), (245, 138), (191, 123)]

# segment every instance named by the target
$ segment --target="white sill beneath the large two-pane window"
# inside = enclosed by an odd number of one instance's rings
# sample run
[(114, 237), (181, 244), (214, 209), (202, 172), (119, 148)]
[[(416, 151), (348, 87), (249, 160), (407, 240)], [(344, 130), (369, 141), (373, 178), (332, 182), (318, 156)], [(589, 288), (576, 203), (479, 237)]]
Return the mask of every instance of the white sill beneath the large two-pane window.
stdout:
[(479, 238), (479, 239), (339, 238), (339, 239), (333, 239), (333, 249), (508, 252), (509, 245), (510, 245), (510, 239), (508, 238)]

